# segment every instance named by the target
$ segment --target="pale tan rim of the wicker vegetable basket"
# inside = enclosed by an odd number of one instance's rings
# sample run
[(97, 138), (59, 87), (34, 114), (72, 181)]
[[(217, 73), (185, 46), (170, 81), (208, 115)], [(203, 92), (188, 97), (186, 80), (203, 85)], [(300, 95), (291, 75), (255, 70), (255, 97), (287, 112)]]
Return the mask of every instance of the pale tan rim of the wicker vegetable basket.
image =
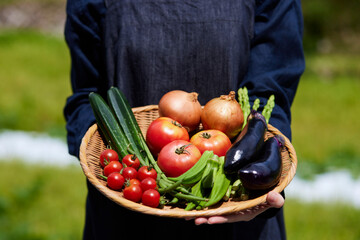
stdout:
[[(141, 111), (151, 111), (157, 108), (157, 105), (148, 105), (144, 107), (137, 107), (133, 108), (133, 112), (141, 112)], [(148, 207), (139, 203), (132, 202), (130, 200), (127, 200), (121, 196), (118, 196), (118, 192), (113, 191), (109, 189), (107, 186), (103, 185), (103, 183), (100, 182), (98, 177), (95, 176), (95, 174), (92, 173), (89, 167), (89, 163), (86, 159), (86, 153), (87, 153), (87, 146), (89, 144), (89, 141), (91, 137), (96, 133), (98, 130), (97, 124), (93, 124), (88, 131), (86, 132), (85, 136), (82, 139), (81, 146), (80, 146), (80, 165), (81, 168), (85, 174), (85, 176), (88, 178), (88, 180), (106, 197), (114, 201), (115, 203), (119, 204), (120, 206), (126, 207), (130, 210), (139, 211), (145, 214), (151, 214), (161, 217), (175, 217), (175, 218), (193, 218), (193, 217), (209, 217), (209, 216), (215, 216), (215, 215), (227, 215), (232, 213), (241, 212), (245, 209), (250, 209), (253, 207), (257, 207), (258, 205), (266, 204), (266, 197), (267, 193), (246, 201), (240, 201), (241, 204), (231, 205), (231, 206), (221, 206), (218, 208), (210, 208), (210, 209), (204, 209), (204, 210), (192, 210), (192, 211), (185, 211), (182, 208), (171, 208), (171, 209), (160, 209), (160, 208), (152, 208)], [(285, 139), (285, 147), (288, 150), (289, 153), (289, 159), (291, 162), (290, 169), (285, 176), (285, 179), (280, 182), (273, 191), (281, 192), (283, 191), (286, 186), (290, 184), (292, 179), (294, 178), (296, 174), (296, 168), (297, 168), (297, 156), (294, 147), (292, 146), (290, 140), (284, 136), (278, 129), (273, 127), (272, 125), (268, 124), (268, 131), (270, 131), (272, 134), (276, 135), (279, 134), (284, 137)]]

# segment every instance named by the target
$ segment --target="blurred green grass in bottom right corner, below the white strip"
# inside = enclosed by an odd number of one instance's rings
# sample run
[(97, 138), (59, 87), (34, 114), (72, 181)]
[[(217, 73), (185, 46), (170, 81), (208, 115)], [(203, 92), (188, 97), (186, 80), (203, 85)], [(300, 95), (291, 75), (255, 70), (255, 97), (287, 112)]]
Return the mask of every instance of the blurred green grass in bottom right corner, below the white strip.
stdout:
[(360, 210), (342, 204), (304, 204), (287, 199), (287, 237), (291, 240), (358, 240)]

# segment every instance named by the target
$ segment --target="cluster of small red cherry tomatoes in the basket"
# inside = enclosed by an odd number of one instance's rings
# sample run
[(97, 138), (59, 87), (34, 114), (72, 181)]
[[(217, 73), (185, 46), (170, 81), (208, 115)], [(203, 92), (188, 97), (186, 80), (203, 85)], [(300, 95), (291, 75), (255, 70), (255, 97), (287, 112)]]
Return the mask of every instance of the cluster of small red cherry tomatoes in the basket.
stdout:
[(157, 172), (150, 166), (141, 166), (133, 154), (126, 155), (121, 162), (116, 151), (106, 149), (100, 154), (100, 165), (107, 186), (122, 191), (124, 198), (157, 207), (160, 193), (157, 191)]

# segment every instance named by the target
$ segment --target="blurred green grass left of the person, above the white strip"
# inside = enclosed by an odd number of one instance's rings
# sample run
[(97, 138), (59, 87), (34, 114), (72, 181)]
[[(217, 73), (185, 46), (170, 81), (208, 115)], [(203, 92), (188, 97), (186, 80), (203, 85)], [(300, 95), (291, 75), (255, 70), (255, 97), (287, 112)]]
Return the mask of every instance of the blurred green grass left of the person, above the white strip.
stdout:
[(63, 39), (35, 31), (0, 31), (0, 129), (64, 136), (69, 69)]

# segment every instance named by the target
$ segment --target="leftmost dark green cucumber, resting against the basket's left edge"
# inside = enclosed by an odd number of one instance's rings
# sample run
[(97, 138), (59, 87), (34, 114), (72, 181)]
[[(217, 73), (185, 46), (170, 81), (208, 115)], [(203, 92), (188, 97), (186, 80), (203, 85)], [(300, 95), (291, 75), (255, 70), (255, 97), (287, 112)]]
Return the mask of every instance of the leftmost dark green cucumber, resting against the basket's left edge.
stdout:
[(106, 142), (123, 158), (128, 154), (129, 142), (105, 100), (97, 93), (89, 94), (89, 101), (98, 127)]

